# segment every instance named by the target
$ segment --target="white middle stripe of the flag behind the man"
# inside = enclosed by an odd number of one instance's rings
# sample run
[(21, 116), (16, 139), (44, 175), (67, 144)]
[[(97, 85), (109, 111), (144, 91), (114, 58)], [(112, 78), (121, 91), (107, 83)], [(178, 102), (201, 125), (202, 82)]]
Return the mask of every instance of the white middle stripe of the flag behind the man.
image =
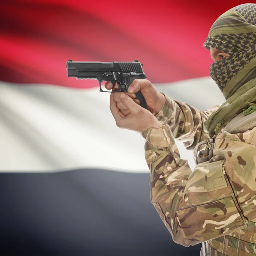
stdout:
[[(157, 84), (159, 91), (201, 110), (224, 102), (210, 78)], [(209, 97), (210, 96), (210, 97)], [(116, 127), (109, 94), (98, 88), (0, 84), (0, 171), (78, 168), (149, 172), (140, 134)], [(192, 152), (177, 142), (194, 168)]]

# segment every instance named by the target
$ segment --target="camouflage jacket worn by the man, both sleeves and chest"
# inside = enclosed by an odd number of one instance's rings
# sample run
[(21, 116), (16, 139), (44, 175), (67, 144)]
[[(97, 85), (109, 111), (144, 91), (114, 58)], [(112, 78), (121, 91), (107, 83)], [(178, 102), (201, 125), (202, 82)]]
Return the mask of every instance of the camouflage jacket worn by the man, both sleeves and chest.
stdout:
[(243, 134), (223, 128), (211, 160), (193, 172), (188, 161), (180, 159), (175, 139), (187, 149), (207, 140), (203, 123), (217, 108), (201, 112), (166, 96), (156, 115), (163, 126), (141, 133), (151, 171), (151, 202), (173, 240), (184, 246), (236, 236), (256, 217), (256, 128)]

